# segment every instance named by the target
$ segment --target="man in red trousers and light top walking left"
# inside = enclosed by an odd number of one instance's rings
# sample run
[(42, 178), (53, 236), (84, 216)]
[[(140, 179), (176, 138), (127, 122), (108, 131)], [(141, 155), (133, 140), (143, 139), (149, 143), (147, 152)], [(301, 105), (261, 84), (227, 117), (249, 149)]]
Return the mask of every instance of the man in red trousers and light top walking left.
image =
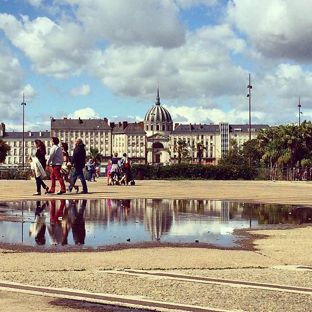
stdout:
[(49, 158), (47, 160), (47, 164), (49, 166), (52, 166), (50, 179), (51, 179), (51, 188), (47, 192), (47, 194), (54, 194), (55, 193), (55, 186), (56, 186), (56, 180), (59, 181), (61, 190), (57, 193), (57, 195), (62, 195), (66, 193), (65, 183), (62, 178), (61, 174), (61, 167), (63, 164), (63, 152), (60, 146), (58, 144), (60, 143), (60, 140), (56, 137), (52, 138), (52, 148), (50, 151)]

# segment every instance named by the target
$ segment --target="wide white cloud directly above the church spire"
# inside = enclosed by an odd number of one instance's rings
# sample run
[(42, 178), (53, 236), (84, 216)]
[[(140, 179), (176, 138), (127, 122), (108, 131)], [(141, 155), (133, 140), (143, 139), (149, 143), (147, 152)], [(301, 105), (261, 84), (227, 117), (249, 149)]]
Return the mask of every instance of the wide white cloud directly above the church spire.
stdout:
[(165, 98), (189, 99), (237, 94), (247, 72), (231, 62), (229, 50), (238, 53), (245, 42), (227, 24), (188, 33), (183, 46), (115, 46), (90, 58), (90, 72), (115, 94), (151, 97), (155, 84)]

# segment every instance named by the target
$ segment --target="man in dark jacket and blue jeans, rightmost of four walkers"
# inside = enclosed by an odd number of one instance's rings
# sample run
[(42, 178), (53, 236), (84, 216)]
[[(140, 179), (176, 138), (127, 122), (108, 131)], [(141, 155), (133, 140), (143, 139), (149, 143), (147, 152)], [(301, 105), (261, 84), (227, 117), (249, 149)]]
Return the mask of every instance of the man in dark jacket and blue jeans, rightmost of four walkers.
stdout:
[[(72, 181), (75, 184), (77, 177), (80, 178), (81, 184), (83, 186), (83, 190), (80, 192), (82, 194), (88, 193), (88, 187), (85, 179), (85, 175), (83, 172), (83, 168), (85, 168), (86, 165), (86, 149), (85, 144), (83, 143), (81, 138), (77, 138), (75, 140), (75, 149), (73, 151), (73, 155), (71, 158), (71, 163), (75, 166), (74, 173), (72, 175)], [(72, 190), (72, 185), (69, 186), (69, 192)]]

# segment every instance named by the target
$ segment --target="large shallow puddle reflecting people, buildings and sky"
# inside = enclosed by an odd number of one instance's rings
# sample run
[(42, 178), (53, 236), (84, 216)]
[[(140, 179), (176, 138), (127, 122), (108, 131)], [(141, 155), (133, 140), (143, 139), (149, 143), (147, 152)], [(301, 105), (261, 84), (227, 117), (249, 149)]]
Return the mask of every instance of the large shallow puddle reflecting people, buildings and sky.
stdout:
[[(0, 242), (87, 245), (137, 242), (237, 246), (234, 229), (311, 223), (312, 208), (218, 200), (98, 199), (0, 202)], [(23, 222), (22, 222), (23, 221)]]

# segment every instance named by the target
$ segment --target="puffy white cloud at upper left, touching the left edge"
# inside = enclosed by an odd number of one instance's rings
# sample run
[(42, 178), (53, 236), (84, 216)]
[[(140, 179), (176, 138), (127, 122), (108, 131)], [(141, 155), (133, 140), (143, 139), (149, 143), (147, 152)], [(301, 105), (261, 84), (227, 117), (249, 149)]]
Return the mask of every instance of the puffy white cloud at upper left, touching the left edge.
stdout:
[(33, 62), (35, 71), (57, 78), (79, 74), (93, 49), (82, 27), (73, 22), (57, 24), (47, 17), (30, 21), (28, 16), (19, 21), (4, 13), (0, 29)]

